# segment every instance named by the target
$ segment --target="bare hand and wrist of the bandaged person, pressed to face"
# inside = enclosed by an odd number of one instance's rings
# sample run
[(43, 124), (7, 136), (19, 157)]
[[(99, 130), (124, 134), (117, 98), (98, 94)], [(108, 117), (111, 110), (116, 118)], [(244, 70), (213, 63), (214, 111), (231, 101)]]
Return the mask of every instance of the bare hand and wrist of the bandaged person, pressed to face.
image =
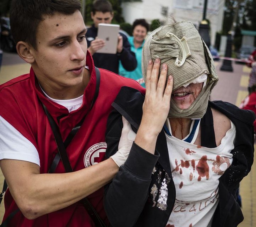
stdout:
[(167, 65), (162, 65), (158, 79), (159, 72), (160, 59), (156, 59), (154, 64), (150, 60), (146, 76), (146, 95), (143, 103), (143, 115), (135, 138), (135, 143), (150, 153), (154, 153), (155, 151), (156, 139), (167, 119), (172, 95), (173, 78), (171, 75), (168, 77), (165, 87)]

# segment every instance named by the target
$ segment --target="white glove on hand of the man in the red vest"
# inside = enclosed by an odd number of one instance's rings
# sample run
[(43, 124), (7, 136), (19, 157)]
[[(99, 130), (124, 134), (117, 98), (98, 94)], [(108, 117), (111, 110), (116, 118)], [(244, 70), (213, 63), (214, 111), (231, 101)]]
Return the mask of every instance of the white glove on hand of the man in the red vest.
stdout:
[(123, 116), (122, 120), (123, 129), (118, 144), (118, 151), (114, 155), (110, 156), (110, 158), (112, 158), (119, 167), (125, 163), (136, 137), (136, 133), (133, 132), (130, 123)]

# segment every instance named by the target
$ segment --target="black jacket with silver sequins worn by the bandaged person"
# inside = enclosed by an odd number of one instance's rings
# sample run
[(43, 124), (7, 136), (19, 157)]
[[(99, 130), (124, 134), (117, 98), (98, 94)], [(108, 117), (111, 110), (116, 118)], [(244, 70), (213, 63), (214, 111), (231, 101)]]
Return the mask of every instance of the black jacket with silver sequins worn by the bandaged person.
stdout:
[[(137, 132), (142, 117), (143, 102), (144, 96), (140, 92), (133, 88), (121, 88), (112, 104), (116, 111), (113, 111), (108, 118), (107, 158), (118, 149), (123, 125), (121, 115)], [(201, 120), (201, 145), (206, 147), (216, 146), (210, 107), (226, 115), (236, 128), (235, 146), (231, 151), (233, 162), (219, 178), (219, 203), (214, 213), (212, 227), (235, 227), (243, 221), (243, 214), (236, 202), (235, 193), (239, 182), (249, 173), (252, 166), (255, 114), (252, 111), (240, 110), (230, 103), (209, 102), (206, 114)], [(153, 184), (157, 184), (157, 174), (152, 174), (153, 169), (160, 173), (162, 178), (167, 173), (171, 179), (167, 185), (166, 210), (152, 206), (149, 189)], [(155, 155), (133, 143), (125, 164), (120, 167), (113, 181), (105, 187), (104, 206), (108, 219), (114, 227), (165, 227), (172, 212), (175, 197), (166, 137), (162, 130), (157, 139)]]

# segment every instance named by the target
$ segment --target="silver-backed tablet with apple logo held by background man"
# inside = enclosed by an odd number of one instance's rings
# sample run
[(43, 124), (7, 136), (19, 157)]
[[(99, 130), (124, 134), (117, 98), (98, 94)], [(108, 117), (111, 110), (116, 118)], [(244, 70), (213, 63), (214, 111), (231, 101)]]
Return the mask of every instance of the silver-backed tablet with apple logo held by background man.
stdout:
[(97, 36), (105, 41), (105, 46), (99, 49), (97, 53), (116, 54), (119, 29), (119, 24), (99, 23)]

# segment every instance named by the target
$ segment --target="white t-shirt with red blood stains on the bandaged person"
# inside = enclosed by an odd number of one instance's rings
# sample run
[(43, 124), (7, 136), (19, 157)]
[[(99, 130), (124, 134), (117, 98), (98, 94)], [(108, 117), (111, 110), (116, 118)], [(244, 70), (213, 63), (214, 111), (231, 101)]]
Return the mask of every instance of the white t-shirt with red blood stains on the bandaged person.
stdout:
[[(171, 132), (169, 120), (167, 127)], [(196, 130), (197, 131), (197, 130)], [(198, 131), (194, 135), (196, 138)], [(197, 146), (194, 143), (166, 134), (176, 199), (169, 217), (170, 226), (210, 227), (218, 205), (219, 177), (231, 165), (235, 126), (216, 148)]]

